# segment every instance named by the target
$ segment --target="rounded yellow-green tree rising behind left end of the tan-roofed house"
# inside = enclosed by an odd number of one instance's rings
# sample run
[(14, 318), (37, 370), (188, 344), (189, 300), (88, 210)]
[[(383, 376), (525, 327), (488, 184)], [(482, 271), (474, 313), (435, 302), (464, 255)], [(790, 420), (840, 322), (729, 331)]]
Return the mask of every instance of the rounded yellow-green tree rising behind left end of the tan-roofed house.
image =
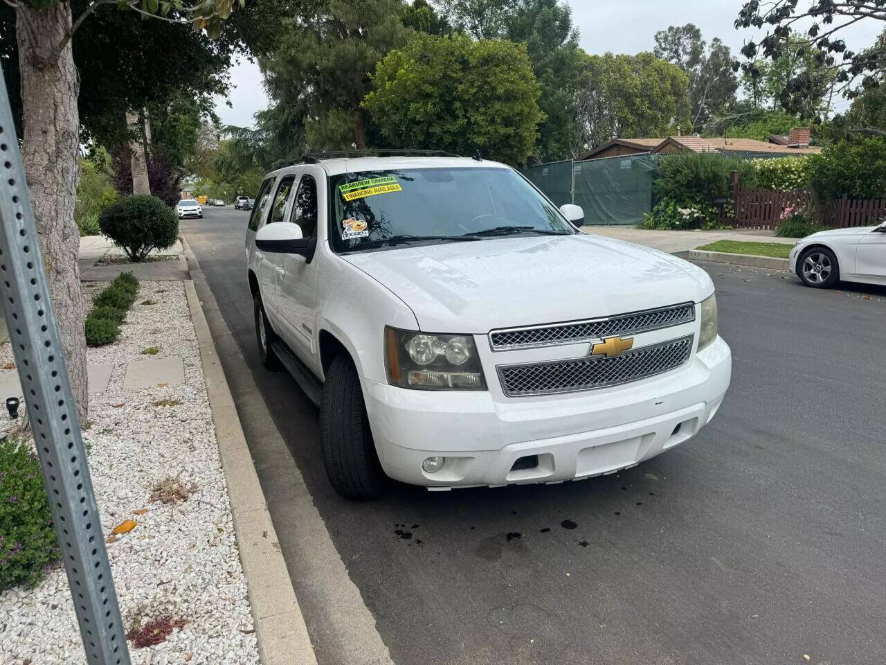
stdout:
[(578, 113), (583, 142), (666, 137), (689, 128), (688, 87), (680, 67), (652, 53), (588, 56)]

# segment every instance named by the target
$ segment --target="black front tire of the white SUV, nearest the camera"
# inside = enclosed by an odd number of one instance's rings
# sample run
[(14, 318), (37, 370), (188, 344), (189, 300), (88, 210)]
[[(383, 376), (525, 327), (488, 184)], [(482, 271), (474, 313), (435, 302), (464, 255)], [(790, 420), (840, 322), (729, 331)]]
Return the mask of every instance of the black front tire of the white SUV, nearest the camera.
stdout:
[(382, 497), (388, 479), (369, 430), (360, 377), (351, 358), (336, 356), (326, 372), (320, 404), (320, 445), (332, 487), (342, 497)]

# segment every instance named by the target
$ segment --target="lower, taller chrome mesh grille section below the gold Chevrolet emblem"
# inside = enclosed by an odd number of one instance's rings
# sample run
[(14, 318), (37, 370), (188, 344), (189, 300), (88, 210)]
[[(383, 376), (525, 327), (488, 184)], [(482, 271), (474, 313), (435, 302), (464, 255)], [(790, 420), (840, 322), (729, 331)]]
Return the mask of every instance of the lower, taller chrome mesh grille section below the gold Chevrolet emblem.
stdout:
[(668, 372), (686, 363), (692, 335), (649, 347), (633, 348), (620, 356), (589, 356), (548, 363), (501, 365), (501, 388), (509, 397), (550, 395), (618, 386)]

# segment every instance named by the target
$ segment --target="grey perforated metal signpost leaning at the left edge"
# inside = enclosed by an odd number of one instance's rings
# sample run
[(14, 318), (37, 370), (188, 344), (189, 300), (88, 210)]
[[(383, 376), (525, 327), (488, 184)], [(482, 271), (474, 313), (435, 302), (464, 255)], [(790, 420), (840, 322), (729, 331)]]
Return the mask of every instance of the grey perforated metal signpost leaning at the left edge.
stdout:
[(0, 75), (0, 297), (89, 665), (129, 665), (65, 353)]

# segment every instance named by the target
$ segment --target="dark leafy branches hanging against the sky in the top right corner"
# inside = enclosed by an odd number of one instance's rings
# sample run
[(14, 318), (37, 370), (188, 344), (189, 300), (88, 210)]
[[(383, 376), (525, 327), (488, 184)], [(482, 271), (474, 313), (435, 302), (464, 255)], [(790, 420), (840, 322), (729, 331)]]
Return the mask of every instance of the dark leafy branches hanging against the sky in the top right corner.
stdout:
[[(735, 20), (735, 27), (766, 26), (766, 35), (759, 41), (752, 40), (742, 48), (747, 59), (735, 62), (745, 72), (754, 74), (754, 61), (758, 57), (769, 61), (780, 59), (792, 48), (799, 47), (812, 57), (816, 69), (833, 75), (835, 91), (847, 97), (854, 97), (861, 90), (875, 88), (886, 71), (886, 43), (878, 39), (870, 48), (852, 51), (843, 40), (846, 27), (859, 22), (872, 26), (886, 26), (886, 3), (882, 0), (773, 0), (761, 3), (749, 0)], [(797, 32), (797, 27), (802, 27)], [(879, 28), (878, 28), (879, 32)], [(820, 81), (810, 76), (810, 70), (803, 68), (789, 75), (785, 90), (781, 95), (782, 106), (790, 109), (797, 106), (794, 98), (810, 98)]]

